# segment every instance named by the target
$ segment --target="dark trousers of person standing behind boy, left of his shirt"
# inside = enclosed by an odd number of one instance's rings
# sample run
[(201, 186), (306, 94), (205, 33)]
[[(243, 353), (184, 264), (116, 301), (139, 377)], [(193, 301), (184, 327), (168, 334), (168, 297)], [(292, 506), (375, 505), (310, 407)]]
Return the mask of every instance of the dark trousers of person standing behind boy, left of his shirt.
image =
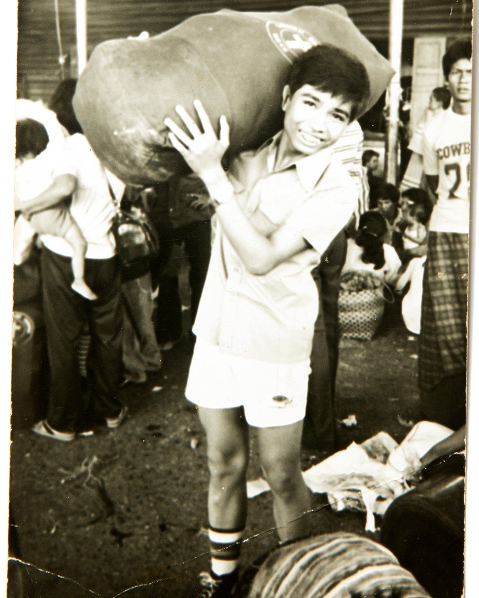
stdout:
[[(175, 228), (168, 237), (163, 237), (163, 248), (171, 254), (173, 243), (184, 242), (187, 260), (190, 263), (189, 283), (191, 288), (190, 322), (193, 325), (198, 312), (199, 300), (205, 283), (208, 264), (211, 257), (211, 221), (190, 222)], [(177, 268), (172, 273), (159, 276), (159, 295), (157, 311), (157, 338), (160, 342), (177, 340), (181, 336), (181, 300), (178, 285)]]

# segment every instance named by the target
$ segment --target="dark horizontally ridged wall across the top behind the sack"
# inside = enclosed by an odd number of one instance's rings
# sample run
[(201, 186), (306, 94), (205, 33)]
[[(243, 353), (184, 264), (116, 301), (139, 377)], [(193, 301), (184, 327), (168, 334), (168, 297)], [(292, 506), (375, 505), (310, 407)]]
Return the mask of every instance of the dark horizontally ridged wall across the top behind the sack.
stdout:
[[(8, 1), (8, 0), (6, 0)], [(105, 39), (155, 35), (193, 14), (234, 10), (289, 10), (313, 4), (295, 0), (88, 0), (88, 43)], [(371, 41), (387, 39), (389, 0), (319, 0), (314, 4), (342, 4), (356, 26)], [(74, 0), (58, 0), (63, 53), (75, 45)], [(404, 37), (418, 35), (468, 35), (472, 0), (405, 0)], [(19, 94), (47, 100), (60, 79), (59, 50), (55, 29), (54, 0), (19, 0)]]

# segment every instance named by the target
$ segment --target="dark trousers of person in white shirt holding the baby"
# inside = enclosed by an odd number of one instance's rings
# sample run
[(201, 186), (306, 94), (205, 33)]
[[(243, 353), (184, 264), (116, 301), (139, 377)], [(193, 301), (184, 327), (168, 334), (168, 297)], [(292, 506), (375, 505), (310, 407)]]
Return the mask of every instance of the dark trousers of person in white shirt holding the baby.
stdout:
[[(47, 248), (42, 252), (43, 309), (50, 363), (47, 422), (60, 431), (72, 431), (87, 411), (114, 417), (121, 404), (116, 398), (122, 378), (122, 303), (117, 257), (85, 260), (85, 280), (98, 295), (84, 299), (71, 289), (71, 259)], [(89, 325), (91, 392), (80, 388), (77, 346), (84, 324)]]

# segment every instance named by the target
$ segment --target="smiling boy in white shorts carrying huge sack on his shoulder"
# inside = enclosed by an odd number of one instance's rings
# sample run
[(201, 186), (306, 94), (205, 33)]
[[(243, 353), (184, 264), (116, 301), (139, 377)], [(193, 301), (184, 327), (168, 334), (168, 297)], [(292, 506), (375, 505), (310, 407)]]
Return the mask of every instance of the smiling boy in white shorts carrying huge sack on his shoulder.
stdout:
[(308, 532), (300, 453), (318, 313), (311, 270), (356, 206), (356, 187), (332, 145), (368, 95), (355, 57), (331, 45), (311, 48), (284, 86), (283, 130), (239, 154), (228, 172), (225, 117), (219, 137), (198, 101), (200, 126), (182, 106), (184, 128), (165, 120), (172, 145), (205, 182), (218, 222), (186, 388), (207, 434), (210, 468), (211, 570), (201, 573), (198, 596), (233, 596), (237, 585), (248, 425), (257, 428), (280, 541)]

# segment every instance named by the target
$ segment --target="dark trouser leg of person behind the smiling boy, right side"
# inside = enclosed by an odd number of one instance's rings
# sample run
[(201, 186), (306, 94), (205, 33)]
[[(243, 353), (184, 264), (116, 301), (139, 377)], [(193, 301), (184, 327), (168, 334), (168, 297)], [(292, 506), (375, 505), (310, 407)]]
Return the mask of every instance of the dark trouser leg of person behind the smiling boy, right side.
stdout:
[(344, 231), (341, 231), (326, 249), (320, 265), (313, 270), (320, 308), (314, 325), (303, 443), (318, 450), (335, 449), (334, 396), (339, 357), (338, 297), (346, 248), (346, 236)]

